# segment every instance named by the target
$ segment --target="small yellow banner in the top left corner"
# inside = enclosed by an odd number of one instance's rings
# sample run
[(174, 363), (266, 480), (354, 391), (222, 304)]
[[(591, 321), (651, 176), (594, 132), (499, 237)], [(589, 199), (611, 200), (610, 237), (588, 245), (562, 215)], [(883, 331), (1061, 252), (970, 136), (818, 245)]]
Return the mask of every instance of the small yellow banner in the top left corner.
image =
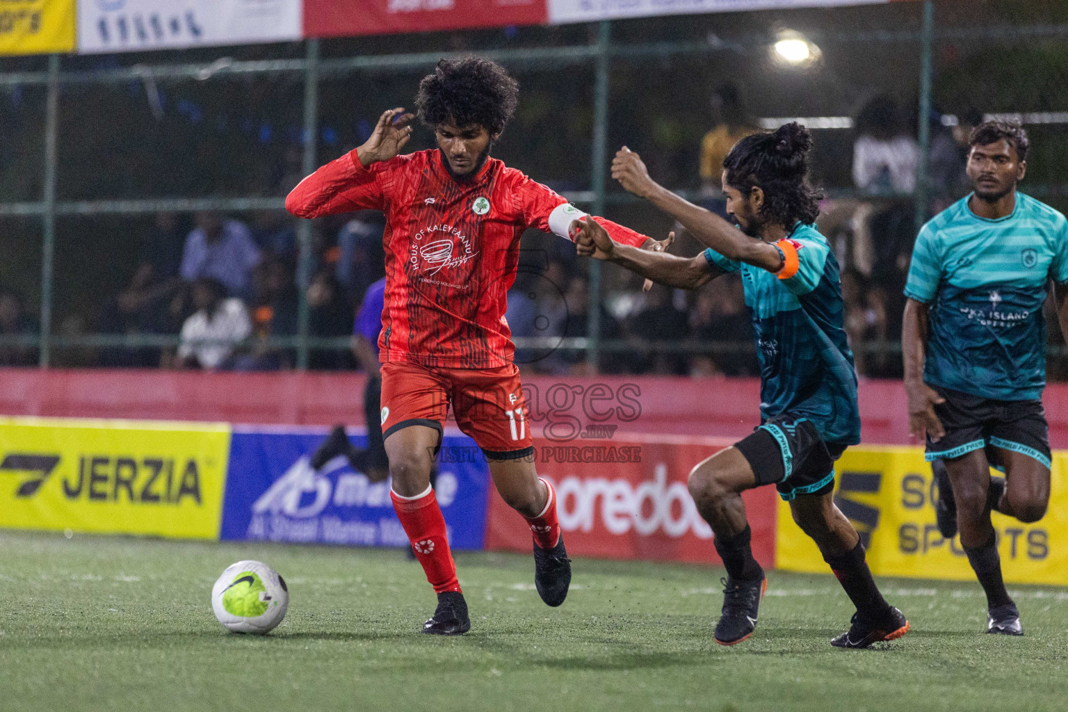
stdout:
[(75, 0), (0, 0), (0, 56), (74, 51)]

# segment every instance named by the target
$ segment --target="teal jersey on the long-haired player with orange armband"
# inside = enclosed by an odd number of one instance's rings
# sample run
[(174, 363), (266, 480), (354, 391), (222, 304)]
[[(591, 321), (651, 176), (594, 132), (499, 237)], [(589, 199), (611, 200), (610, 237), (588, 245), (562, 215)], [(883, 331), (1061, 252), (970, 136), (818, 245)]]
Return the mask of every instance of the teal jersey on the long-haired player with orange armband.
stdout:
[(812, 225), (798, 223), (788, 239), (798, 254), (789, 279), (714, 250), (705, 250), (705, 258), (741, 272), (760, 361), (763, 421), (790, 413), (812, 421), (826, 442), (855, 445), (861, 438), (857, 370), (843, 328), (838, 263)]

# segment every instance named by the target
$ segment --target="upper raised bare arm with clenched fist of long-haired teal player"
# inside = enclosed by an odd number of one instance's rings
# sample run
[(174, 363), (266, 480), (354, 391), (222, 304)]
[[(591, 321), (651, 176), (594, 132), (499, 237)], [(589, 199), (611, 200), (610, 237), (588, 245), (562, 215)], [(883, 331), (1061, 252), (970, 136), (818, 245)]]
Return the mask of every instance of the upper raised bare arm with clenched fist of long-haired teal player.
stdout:
[(674, 217), (702, 244), (727, 259), (748, 263), (770, 272), (782, 269), (783, 256), (774, 246), (749, 237), (714, 212), (660, 186), (649, 177), (642, 158), (627, 146), (621, 148), (612, 160), (612, 177), (629, 192)]

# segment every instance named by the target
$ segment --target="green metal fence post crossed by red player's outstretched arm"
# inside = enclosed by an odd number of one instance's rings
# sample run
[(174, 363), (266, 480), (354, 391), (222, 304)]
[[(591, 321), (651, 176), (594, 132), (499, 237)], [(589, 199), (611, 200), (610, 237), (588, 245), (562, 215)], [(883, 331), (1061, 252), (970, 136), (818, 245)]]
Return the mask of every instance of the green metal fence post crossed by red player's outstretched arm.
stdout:
[[(612, 22), (601, 20), (597, 28), (597, 62), (594, 79), (594, 145), (591, 188), (594, 202), (593, 215), (604, 212), (606, 162), (608, 161), (608, 62), (612, 42)], [(597, 373), (600, 355), (600, 260), (590, 260), (590, 312), (586, 317), (586, 364)]]

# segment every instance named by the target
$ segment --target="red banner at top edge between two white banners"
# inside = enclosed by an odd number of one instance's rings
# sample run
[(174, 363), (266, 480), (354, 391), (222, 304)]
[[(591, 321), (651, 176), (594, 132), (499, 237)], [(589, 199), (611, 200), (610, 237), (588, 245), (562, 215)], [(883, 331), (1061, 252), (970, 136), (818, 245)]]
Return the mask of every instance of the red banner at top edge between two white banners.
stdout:
[(304, 34), (309, 37), (546, 21), (546, 0), (304, 0)]

